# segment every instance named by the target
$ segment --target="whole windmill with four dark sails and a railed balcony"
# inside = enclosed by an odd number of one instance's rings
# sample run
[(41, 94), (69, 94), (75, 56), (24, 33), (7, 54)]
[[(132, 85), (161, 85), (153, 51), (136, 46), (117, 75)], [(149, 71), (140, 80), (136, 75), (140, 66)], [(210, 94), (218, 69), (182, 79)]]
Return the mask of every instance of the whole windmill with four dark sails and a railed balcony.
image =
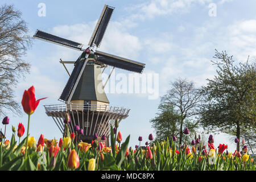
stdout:
[[(84, 134), (80, 138), (83, 142), (91, 142), (94, 133), (97, 133), (99, 137), (105, 135), (106, 146), (109, 145), (110, 127), (115, 119), (121, 122), (122, 119), (128, 116), (130, 111), (130, 109), (109, 105), (109, 100), (104, 91), (106, 82), (108, 82), (114, 68), (142, 73), (145, 67), (143, 63), (97, 50), (108, 27), (113, 10), (114, 7), (104, 6), (92, 37), (89, 40), (88, 47), (86, 46), (87, 48), (85, 49), (82, 48), (84, 45), (81, 43), (63, 39), (40, 30), (37, 30), (34, 35), (34, 38), (82, 51), (76, 61), (60, 60), (60, 63), (63, 65), (71, 63), (75, 67), (72, 73), (69, 74), (64, 65), (70, 77), (59, 100), (65, 104), (45, 105), (46, 114), (53, 118), (57, 127), (59, 127), (64, 135), (63, 121), (65, 113), (68, 112), (71, 116), (71, 122), (68, 126), (71, 132), (74, 132), (73, 127), (75, 125), (79, 125), (84, 130)], [(113, 68), (103, 85), (101, 74), (108, 65)], [(101, 68), (104, 68), (102, 72)]]

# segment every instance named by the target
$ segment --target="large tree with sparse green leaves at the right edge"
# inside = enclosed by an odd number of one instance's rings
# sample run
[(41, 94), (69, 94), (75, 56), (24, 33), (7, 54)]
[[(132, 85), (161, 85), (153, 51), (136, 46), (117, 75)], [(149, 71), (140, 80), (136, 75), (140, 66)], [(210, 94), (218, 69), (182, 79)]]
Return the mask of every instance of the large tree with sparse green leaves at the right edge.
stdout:
[[(235, 63), (233, 56), (216, 50), (217, 75), (203, 87), (205, 104), (201, 124), (211, 131), (221, 131), (241, 139), (241, 133), (255, 131), (255, 63)], [(241, 142), (241, 140), (240, 140)], [(240, 151), (240, 144), (237, 143)]]

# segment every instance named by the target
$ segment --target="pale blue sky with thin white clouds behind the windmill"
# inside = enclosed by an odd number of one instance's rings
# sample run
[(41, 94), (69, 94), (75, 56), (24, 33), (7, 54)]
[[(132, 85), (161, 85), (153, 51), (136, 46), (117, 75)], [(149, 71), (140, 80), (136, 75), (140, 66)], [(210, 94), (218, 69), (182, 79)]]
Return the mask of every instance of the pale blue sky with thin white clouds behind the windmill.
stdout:
[[(131, 109), (129, 117), (119, 124), (118, 129), (123, 139), (130, 135), (131, 147), (138, 144), (139, 136), (142, 136), (143, 143), (150, 133), (155, 136), (150, 119), (158, 112), (160, 97), (170, 89), (170, 82), (181, 77), (197, 86), (205, 86), (206, 79), (214, 77), (216, 67), (210, 60), (213, 60), (215, 49), (227, 51), (238, 61), (247, 60), (249, 55), (253, 60), (256, 56), (254, 0), (2, 0), (1, 4), (4, 3), (13, 4), (22, 12), (31, 36), (39, 29), (84, 45), (88, 44), (104, 5), (115, 7), (98, 50), (146, 64), (143, 75), (151, 75), (152, 82), (156, 80), (154, 89), (147, 88), (146, 93), (107, 92), (110, 105)], [(30, 136), (36, 140), (40, 134), (47, 139), (61, 137), (43, 105), (62, 104), (58, 98), (68, 74), (59, 60), (74, 61), (80, 54), (73, 49), (34, 39), (24, 56), (31, 64), (31, 72), (26, 78), (20, 78), (14, 88), (16, 101), (20, 103), (24, 90), (32, 85), (35, 86), (36, 99), (48, 97), (40, 101), (31, 115)], [(68, 65), (69, 72), (72, 68)], [(111, 69), (108, 67), (105, 73), (110, 73)], [(115, 78), (114, 87), (118, 86), (118, 75), (128, 77), (131, 73), (115, 69), (115, 75), (111, 77)], [(149, 84), (150, 77), (147, 78)], [(150, 97), (152, 93), (157, 94)], [(9, 118), (7, 138), (11, 137), (11, 125), (17, 128), (22, 122), (27, 129), (26, 114), (22, 117), (10, 114)], [(236, 150), (233, 140), (234, 137), (230, 139), (226, 134), (214, 135), (214, 144), (228, 144), (229, 151)]]

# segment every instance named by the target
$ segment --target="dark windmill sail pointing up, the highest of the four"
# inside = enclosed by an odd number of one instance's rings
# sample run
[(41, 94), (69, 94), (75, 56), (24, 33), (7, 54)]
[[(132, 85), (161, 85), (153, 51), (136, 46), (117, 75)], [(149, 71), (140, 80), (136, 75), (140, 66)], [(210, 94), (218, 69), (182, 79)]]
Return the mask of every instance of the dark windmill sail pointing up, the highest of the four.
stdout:
[(100, 46), (101, 40), (105, 34), (106, 27), (108, 27), (109, 20), (111, 18), (113, 10), (114, 10), (113, 7), (110, 7), (108, 5), (104, 6), (101, 12), (100, 19), (98, 19), (98, 22), (93, 31), (92, 37), (90, 38), (90, 42), (89, 42), (90, 47), (92, 47), (93, 44), (95, 44), (96, 47)]

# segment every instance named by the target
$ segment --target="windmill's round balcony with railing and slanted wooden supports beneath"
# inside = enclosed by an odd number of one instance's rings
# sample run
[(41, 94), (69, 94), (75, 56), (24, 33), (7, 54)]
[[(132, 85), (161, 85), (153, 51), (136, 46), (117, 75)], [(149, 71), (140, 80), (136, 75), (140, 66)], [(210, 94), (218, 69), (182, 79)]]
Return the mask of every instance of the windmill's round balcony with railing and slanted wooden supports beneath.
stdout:
[(78, 125), (84, 130), (81, 140), (91, 141), (94, 133), (98, 136), (106, 135), (109, 137), (110, 128), (114, 126), (115, 119), (121, 122), (128, 117), (130, 109), (110, 105), (92, 105), (92, 104), (55, 104), (44, 105), (46, 114), (53, 118), (57, 127), (65, 135), (64, 118), (68, 112), (71, 122), (68, 127), (73, 133), (74, 126)]

